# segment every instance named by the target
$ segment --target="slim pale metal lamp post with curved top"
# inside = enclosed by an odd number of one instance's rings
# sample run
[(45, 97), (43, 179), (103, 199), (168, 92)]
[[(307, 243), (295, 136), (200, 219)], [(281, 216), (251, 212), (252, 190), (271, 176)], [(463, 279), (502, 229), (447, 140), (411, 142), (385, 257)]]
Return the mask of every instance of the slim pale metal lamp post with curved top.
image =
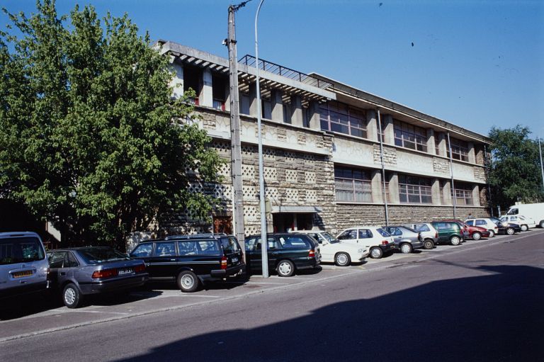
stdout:
[(261, 137), (261, 84), (259, 81), (259, 42), (257, 40), (257, 23), (259, 21), (259, 12), (264, 0), (259, 2), (259, 7), (255, 14), (255, 65), (256, 65), (256, 88), (257, 88), (257, 128), (259, 128), (259, 198), (261, 201), (261, 261), (263, 278), (268, 278), (268, 242), (266, 240), (266, 209), (264, 195), (264, 167), (263, 167), (263, 139)]

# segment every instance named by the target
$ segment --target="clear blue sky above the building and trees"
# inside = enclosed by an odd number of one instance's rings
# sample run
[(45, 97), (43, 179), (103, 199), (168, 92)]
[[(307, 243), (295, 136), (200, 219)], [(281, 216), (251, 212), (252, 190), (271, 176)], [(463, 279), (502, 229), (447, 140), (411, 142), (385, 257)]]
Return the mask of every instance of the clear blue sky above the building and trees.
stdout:
[[(126, 12), (152, 39), (227, 57), (227, 8), (238, 2), (59, 0), (57, 9)], [(33, 0), (0, 4), (35, 11)], [(237, 12), (239, 57), (254, 55), (258, 4)], [(6, 23), (2, 14), (2, 29)], [(259, 57), (485, 135), (521, 124), (544, 137), (544, 1), (265, 0)]]

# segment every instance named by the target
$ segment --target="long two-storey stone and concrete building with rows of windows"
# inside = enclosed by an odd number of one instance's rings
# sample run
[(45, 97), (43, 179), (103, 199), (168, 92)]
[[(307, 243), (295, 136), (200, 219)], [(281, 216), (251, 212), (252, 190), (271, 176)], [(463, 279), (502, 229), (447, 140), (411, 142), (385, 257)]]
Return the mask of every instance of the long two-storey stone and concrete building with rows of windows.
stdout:
[[(228, 60), (171, 42), (159, 47), (176, 74), (174, 96), (196, 91), (200, 125), (230, 159)], [(260, 232), (255, 66), (251, 56), (239, 61), (246, 234)], [(262, 60), (259, 69), (268, 231), (385, 225), (386, 203), (390, 223), (489, 215), (484, 135), (320, 74)], [(220, 184), (194, 185), (222, 200), (213, 225), (189, 212), (159, 227), (232, 231), (229, 163), (221, 174)]]

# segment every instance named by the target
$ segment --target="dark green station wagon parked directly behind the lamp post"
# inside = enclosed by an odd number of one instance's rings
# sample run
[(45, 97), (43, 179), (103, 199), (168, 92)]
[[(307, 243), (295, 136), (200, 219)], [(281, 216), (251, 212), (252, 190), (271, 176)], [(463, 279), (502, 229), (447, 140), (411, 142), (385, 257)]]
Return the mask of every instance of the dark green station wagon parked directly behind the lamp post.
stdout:
[[(276, 270), (278, 276), (292, 276), (297, 270), (315, 268), (321, 261), (317, 240), (307, 234), (267, 234), (268, 270)], [(246, 238), (246, 256), (250, 271), (263, 267), (261, 235)]]

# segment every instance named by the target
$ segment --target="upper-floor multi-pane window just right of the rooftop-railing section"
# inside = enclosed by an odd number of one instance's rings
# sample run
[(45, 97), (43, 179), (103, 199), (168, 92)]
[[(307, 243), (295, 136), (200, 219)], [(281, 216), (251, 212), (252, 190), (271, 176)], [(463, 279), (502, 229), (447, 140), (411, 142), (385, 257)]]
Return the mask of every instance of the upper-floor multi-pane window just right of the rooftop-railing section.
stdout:
[(366, 138), (366, 114), (339, 102), (319, 106), (321, 129)]

